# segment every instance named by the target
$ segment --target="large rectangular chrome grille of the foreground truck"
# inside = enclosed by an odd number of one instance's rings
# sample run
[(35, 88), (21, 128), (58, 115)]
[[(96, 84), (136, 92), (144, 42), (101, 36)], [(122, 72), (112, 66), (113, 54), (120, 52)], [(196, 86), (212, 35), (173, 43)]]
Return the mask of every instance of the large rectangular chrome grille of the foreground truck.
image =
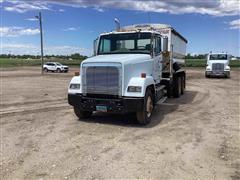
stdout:
[(120, 95), (120, 74), (119, 66), (83, 66), (83, 93)]

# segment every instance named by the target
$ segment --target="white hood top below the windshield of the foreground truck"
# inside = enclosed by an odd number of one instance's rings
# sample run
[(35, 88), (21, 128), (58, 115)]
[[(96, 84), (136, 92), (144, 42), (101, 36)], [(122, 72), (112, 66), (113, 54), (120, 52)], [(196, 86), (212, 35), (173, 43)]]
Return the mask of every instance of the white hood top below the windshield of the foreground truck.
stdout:
[(131, 64), (146, 61), (149, 59), (151, 59), (151, 56), (149, 54), (107, 54), (88, 58), (84, 60), (83, 63), (109, 62)]

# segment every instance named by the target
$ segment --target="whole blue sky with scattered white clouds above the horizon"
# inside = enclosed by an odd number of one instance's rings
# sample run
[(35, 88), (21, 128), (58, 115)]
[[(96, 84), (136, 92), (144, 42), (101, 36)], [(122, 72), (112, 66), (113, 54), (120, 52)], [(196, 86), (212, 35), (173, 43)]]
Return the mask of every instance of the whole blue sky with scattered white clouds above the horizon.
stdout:
[(102, 32), (136, 23), (170, 24), (186, 39), (187, 53), (227, 51), (240, 56), (239, 0), (0, 0), (1, 52), (40, 54), (38, 21), (43, 16), (45, 54), (92, 54)]

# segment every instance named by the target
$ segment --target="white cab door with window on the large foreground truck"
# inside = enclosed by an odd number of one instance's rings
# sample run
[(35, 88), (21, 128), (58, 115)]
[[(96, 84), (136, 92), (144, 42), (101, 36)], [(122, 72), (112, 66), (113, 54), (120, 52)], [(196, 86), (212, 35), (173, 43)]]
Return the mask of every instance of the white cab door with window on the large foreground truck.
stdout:
[(153, 38), (153, 77), (155, 83), (160, 83), (162, 78), (161, 36)]

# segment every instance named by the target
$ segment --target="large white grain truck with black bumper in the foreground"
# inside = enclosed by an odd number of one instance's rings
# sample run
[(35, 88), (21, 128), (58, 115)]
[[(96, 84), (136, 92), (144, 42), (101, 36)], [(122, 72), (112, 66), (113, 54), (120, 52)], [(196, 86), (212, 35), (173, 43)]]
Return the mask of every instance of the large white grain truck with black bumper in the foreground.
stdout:
[(136, 113), (151, 121), (154, 106), (184, 93), (182, 68), (187, 40), (170, 25), (136, 24), (104, 33), (94, 56), (84, 60), (68, 89), (68, 102), (79, 119), (94, 111)]

